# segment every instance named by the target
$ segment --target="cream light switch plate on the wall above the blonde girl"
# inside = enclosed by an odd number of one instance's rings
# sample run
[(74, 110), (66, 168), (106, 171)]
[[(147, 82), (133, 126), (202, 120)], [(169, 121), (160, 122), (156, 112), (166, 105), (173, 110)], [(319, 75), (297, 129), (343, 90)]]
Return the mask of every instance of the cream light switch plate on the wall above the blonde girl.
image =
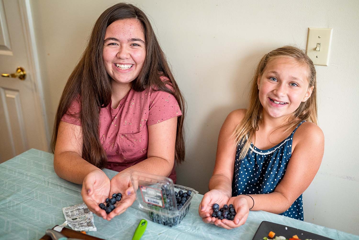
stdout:
[[(314, 65), (327, 66), (329, 64), (332, 32), (333, 28), (308, 28), (306, 53)], [(319, 48), (318, 44), (320, 44)]]

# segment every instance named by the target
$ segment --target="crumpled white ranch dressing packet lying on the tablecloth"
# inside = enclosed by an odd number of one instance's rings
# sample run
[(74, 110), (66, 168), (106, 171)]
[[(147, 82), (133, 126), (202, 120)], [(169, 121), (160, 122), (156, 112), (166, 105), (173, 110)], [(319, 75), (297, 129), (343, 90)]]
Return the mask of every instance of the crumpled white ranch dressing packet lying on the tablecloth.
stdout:
[(76, 204), (67, 208), (62, 208), (67, 225), (75, 231), (97, 231), (93, 221), (93, 213), (85, 203)]

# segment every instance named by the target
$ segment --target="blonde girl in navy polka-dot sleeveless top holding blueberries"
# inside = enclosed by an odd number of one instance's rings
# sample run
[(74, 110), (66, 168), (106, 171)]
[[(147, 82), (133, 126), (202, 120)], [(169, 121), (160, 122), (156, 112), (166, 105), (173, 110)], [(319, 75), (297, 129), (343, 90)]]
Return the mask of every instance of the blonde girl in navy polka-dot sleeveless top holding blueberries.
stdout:
[[(204, 222), (238, 227), (250, 210), (303, 220), (302, 193), (324, 152), (316, 88), (316, 70), (302, 50), (284, 46), (263, 56), (248, 109), (231, 112), (220, 130), (210, 191), (199, 206)], [(216, 203), (232, 204), (236, 216), (220, 216)]]

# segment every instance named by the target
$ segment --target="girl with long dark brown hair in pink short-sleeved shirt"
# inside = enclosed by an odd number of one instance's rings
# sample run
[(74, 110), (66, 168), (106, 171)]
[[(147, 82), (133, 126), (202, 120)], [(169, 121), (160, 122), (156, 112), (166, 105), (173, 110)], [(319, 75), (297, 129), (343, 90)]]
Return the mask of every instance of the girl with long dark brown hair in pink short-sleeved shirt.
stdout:
[[(185, 102), (146, 15), (119, 3), (97, 19), (56, 113), (54, 168), (83, 184), (84, 202), (111, 220), (134, 201), (130, 169), (169, 176), (184, 159)], [(111, 180), (101, 170), (119, 173)], [(98, 204), (122, 200), (106, 213)]]

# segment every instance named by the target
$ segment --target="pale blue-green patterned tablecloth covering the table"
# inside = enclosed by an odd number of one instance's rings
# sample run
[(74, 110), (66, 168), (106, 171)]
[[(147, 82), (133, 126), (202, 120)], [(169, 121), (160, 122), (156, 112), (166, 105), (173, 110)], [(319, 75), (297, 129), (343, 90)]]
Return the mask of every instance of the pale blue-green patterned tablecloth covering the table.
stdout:
[[(110, 178), (116, 172), (104, 169)], [(37, 240), (45, 230), (64, 223), (63, 207), (82, 203), (81, 185), (67, 182), (53, 170), (53, 155), (36, 149), (28, 150), (0, 164), (0, 240)], [(226, 239), (251, 240), (262, 221), (270, 221), (336, 240), (359, 240), (359, 236), (312, 223), (263, 211), (250, 212), (247, 222), (236, 229), (225, 230), (205, 224), (198, 215), (203, 195), (197, 194), (189, 212), (175, 227), (151, 222), (148, 215), (136, 207), (110, 222), (94, 216), (96, 232), (88, 235), (108, 240), (132, 239), (139, 221), (148, 220), (141, 239)], [(259, 239), (258, 239), (259, 240)]]

